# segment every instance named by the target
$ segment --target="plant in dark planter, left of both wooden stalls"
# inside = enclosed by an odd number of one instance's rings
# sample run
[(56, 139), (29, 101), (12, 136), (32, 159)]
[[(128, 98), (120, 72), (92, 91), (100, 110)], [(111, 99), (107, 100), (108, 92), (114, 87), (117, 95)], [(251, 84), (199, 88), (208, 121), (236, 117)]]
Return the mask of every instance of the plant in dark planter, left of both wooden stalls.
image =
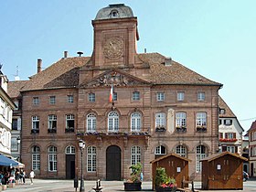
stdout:
[(136, 165), (131, 165), (129, 167), (131, 169), (131, 178), (124, 182), (124, 190), (125, 191), (140, 191), (142, 190), (142, 180), (141, 174), (143, 170), (143, 165), (141, 163), (137, 163)]

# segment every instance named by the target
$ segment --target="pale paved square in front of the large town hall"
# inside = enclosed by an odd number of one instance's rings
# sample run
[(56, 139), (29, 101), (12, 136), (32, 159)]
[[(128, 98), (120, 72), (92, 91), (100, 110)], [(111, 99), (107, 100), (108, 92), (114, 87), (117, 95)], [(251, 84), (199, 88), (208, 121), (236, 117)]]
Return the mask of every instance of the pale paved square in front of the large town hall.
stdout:
[[(79, 182), (80, 186), (80, 182)], [(84, 187), (85, 192), (94, 192), (92, 187), (96, 186), (95, 181), (85, 181)], [(101, 181), (102, 192), (116, 192), (124, 191), (123, 190), (123, 181)], [(219, 190), (201, 190), (200, 182), (195, 182), (195, 188), (197, 191), (204, 192), (218, 192)], [(152, 191), (152, 182), (145, 181), (143, 182), (142, 191), (149, 192)], [(7, 187), (5, 192), (8, 191), (18, 191), (18, 192), (74, 192), (73, 180), (57, 180), (57, 179), (35, 179), (34, 185), (30, 185), (29, 180), (27, 179), (27, 184), (25, 185), (16, 185), (16, 187)], [(80, 191), (80, 188), (77, 188), (77, 191)], [(224, 192), (231, 192), (234, 190), (223, 190)], [(249, 180), (244, 182), (243, 190), (235, 190), (243, 192), (256, 192), (256, 181)]]

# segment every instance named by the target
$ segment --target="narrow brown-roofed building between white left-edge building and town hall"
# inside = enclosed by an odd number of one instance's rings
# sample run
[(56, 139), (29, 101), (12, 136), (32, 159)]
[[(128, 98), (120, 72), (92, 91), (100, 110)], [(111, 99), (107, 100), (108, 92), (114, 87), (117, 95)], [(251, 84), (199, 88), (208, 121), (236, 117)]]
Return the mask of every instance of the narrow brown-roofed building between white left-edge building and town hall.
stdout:
[(12, 137), (11, 137), (11, 155), (17, 160), (20, 159), (20, 147), (21, 141), (21, 109), (22, 109), (22, 97), (20, 90), (27, 83), (27, 80), (9, 81), (7, 93), (16, 104), (16, 108), (13, 111), (12, 119)]

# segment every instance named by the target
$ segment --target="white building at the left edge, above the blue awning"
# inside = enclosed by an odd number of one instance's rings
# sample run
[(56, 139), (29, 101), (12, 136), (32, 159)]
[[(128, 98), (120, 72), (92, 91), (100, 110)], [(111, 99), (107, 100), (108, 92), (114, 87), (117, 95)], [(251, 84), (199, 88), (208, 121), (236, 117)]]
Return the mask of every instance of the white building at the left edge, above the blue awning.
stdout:
[(0, 154), (11, 156), (12, 115), (15, 103), (7, 95), (8, 79), (0, 69)]

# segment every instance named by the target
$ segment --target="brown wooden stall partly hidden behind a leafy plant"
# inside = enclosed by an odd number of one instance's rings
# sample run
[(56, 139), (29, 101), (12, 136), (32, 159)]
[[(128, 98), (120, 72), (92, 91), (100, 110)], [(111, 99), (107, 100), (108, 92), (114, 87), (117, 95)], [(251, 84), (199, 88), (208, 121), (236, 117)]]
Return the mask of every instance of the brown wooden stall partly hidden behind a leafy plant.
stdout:
[(165, 168), (167, 176), (176, 179), (177, 187), (182, 187), (182, 182), (189, 180), (188, 162), (191, 162), (191, 160), (176, 154), (164, 155), (151, 161), (153, 176), (152, 188), (155, 189), (156, 168), (159, 166)]

